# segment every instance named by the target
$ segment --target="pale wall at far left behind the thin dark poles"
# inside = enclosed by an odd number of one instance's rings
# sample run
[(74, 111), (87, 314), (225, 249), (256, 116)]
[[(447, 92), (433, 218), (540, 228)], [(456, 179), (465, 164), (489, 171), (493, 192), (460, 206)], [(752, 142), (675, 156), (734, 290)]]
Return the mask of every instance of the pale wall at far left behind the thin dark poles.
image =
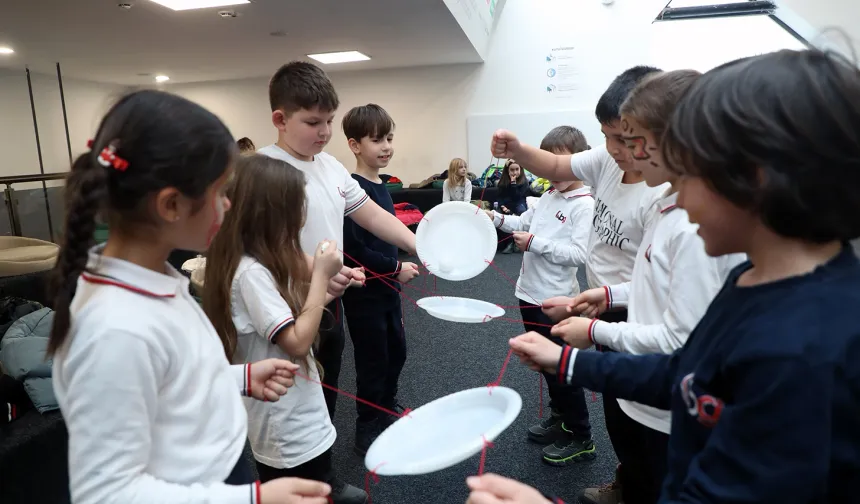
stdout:
[[(33, 73), (32, 84), (45, 173), (68, 171), (69, 151), (57, 78)], [(63, 90), (72, 154), (77, 155), (86, 150), (98, 121), (122, 88), (64, 79)], [(36, 133), (23, 71), (0, 73), (0, 110), (0, 176), (39, 173)]]

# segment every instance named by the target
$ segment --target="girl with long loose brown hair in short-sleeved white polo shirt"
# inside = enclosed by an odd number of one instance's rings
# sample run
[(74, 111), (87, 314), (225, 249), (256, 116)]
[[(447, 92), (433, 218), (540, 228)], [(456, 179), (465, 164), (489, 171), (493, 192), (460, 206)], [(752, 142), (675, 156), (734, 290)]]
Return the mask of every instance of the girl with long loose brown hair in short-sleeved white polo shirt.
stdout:
[(207, 257), (203, 307), (233, 362), (279, 358), (301, 367), (281, 401), (245, 401), (260, 480), (323, 481), (335, 504), (361, 504), (367, 494), (337, 479), (332, 469), (337, 434), (312, 349), (328, 281), (343, 264), (337, 244), (326, 241), (309, 271), (299, 244), (304, 185), (302, 172), (283, 161), (260, 155), (237, 161), (227, 193), (233, 209)]

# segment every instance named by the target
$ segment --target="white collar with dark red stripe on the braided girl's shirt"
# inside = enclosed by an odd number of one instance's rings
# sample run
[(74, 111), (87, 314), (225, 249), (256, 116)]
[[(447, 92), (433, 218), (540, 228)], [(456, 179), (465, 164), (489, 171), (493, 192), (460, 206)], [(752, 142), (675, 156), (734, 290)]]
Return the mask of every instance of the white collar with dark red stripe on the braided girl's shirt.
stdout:
[(165, 264), (167, 274), (101, 255), (104, 245), (90, 249), (87, 270), (81, 279), (90, 284), (110, 285), (150, 297), (175, 297), (187, 282), (173, 266)]

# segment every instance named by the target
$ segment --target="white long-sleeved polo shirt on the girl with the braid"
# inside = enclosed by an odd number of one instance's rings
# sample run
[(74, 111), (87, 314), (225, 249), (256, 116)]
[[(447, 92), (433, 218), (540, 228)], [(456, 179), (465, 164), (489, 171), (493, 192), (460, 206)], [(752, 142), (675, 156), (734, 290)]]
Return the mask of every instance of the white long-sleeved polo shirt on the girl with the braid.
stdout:
[(245, 445), (245, 366), (230, 366), (188, 280), (90, 253), (54, 357), (76, 504), (256, 504), (228, 486)]

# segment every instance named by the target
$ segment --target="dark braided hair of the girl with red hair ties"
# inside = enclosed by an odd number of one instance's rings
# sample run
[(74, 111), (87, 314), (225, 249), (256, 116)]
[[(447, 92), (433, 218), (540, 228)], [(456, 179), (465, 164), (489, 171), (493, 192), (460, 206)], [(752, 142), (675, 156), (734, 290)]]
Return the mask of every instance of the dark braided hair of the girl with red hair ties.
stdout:
[[(124, 96), (108, 111), (91, 149), (75, 160), (66, 179), (66, 222), (50, 285), (55, 315), (49, 356), (68, 335), (69, 305), (86, 269), (96, 218), (101, 214), (112, 229), (147, 222), (146, 196), (167, 187), (202, 207), (206, 189), (223, 175), (236, 145), (227, 127), (203, 107), (146, 90)], [(103, 166), (104, 149), (127, 165)]]

